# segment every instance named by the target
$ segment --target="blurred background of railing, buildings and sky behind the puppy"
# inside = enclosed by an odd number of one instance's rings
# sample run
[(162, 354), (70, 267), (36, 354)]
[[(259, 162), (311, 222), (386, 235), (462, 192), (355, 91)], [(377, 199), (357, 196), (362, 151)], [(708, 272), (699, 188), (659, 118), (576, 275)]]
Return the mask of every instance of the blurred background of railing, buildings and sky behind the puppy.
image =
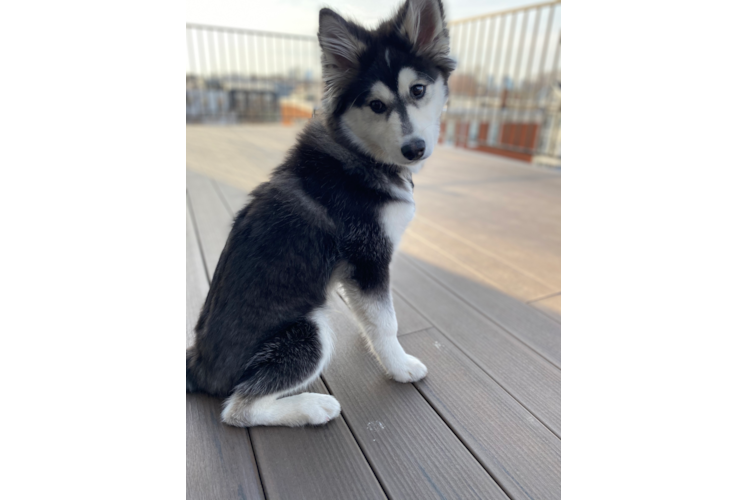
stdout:
[[(399, 2), (325, 5), (368, 27)], [(187, 123), (283, 123), (319, 105), (320, 3), (187, 2)], [(502, 8), (500, 12), (496, 12)], [(557, 165), (554, 4), (445, 2), (457, 71), (444, 144)]]

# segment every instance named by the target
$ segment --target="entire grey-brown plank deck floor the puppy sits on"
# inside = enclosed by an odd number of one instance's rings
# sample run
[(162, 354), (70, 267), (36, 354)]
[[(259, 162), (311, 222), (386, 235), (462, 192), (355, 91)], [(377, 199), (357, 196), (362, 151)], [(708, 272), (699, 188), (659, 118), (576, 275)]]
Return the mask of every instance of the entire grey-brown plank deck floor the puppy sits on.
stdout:
[[(246, 192), (297, 129), (187, 127), (187, 345)], [(322, 427), (237, 429), (187, 395), (188, 499), (558, 499), (560, 256), (555, 172), (439, 148), (414, 176), (416, 217), (392, 263), (400, 340), (429, 368), (387, 380), (342, 300), (312, 391)]]

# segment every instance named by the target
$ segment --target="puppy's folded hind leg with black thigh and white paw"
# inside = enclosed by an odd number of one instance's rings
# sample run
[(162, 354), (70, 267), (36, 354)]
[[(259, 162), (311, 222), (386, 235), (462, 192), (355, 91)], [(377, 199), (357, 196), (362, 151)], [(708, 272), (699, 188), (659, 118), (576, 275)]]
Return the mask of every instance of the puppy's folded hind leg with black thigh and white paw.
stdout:
[(314, 381), (332, 354), (332, 329), (325, 310), (297, 321), (267, 341), (252, 358), (224, 404), (229, 425), (320, 425), (340, 415), (340, 403), (326, 394), (299, 391)]

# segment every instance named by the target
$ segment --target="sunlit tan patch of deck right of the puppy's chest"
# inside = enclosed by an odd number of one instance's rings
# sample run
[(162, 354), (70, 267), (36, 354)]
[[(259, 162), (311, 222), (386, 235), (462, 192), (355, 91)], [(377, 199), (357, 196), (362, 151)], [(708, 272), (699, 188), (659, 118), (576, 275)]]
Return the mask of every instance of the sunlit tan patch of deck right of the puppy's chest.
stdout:
[(558, 181), (526, 164), (439, 147), (413, 177), (416, 217), (558, 291)]

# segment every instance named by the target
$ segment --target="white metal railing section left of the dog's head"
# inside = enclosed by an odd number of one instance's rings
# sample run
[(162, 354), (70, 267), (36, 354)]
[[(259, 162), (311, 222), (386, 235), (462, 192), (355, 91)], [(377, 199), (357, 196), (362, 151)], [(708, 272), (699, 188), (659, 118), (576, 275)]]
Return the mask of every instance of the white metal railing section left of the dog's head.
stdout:
[(317, 38), (187, 24), (187, 122), (312, 116), (320, 99)]

